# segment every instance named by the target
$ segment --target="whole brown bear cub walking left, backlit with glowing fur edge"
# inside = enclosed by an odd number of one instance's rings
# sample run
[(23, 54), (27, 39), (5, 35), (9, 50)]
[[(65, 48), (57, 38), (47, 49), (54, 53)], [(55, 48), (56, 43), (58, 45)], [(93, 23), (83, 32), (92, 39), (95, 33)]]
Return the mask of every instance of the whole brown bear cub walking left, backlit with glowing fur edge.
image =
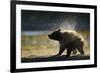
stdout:
[(61, 55), (65, 49), (67, 49), (67, 57), (71, 55), (71, 52), (76, 54), (76, 50), (78, 50), (80, 54), (84, 54), (84, 42), (82, 38), (75, 36), (74, 33), (61, 32), (59, 29), (48, 35), (48, 37), (52, 40), (59, 41), (60, 50), (57, 55)]

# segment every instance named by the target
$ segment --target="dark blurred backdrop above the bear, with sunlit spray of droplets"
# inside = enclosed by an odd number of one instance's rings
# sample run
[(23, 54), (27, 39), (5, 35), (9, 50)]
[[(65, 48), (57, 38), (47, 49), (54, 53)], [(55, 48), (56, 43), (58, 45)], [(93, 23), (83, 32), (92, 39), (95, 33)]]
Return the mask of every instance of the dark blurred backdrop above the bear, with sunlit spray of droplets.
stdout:
[(55, 29), (90, 29), (90, 14), (21, 10), (22, 31), (49, 31)]

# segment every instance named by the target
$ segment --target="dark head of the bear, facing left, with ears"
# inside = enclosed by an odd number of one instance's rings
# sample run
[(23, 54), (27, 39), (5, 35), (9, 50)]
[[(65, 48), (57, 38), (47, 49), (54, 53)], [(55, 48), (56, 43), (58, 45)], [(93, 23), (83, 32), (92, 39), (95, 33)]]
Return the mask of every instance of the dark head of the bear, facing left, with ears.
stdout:
[(53, 33), (51, 33), (50, 35), (48, 35), (48, 37), (52, 40), (60, 41), (62, 38), (62, 33), (60, 32), (60, 29), (58, 29), (54, 31)]

